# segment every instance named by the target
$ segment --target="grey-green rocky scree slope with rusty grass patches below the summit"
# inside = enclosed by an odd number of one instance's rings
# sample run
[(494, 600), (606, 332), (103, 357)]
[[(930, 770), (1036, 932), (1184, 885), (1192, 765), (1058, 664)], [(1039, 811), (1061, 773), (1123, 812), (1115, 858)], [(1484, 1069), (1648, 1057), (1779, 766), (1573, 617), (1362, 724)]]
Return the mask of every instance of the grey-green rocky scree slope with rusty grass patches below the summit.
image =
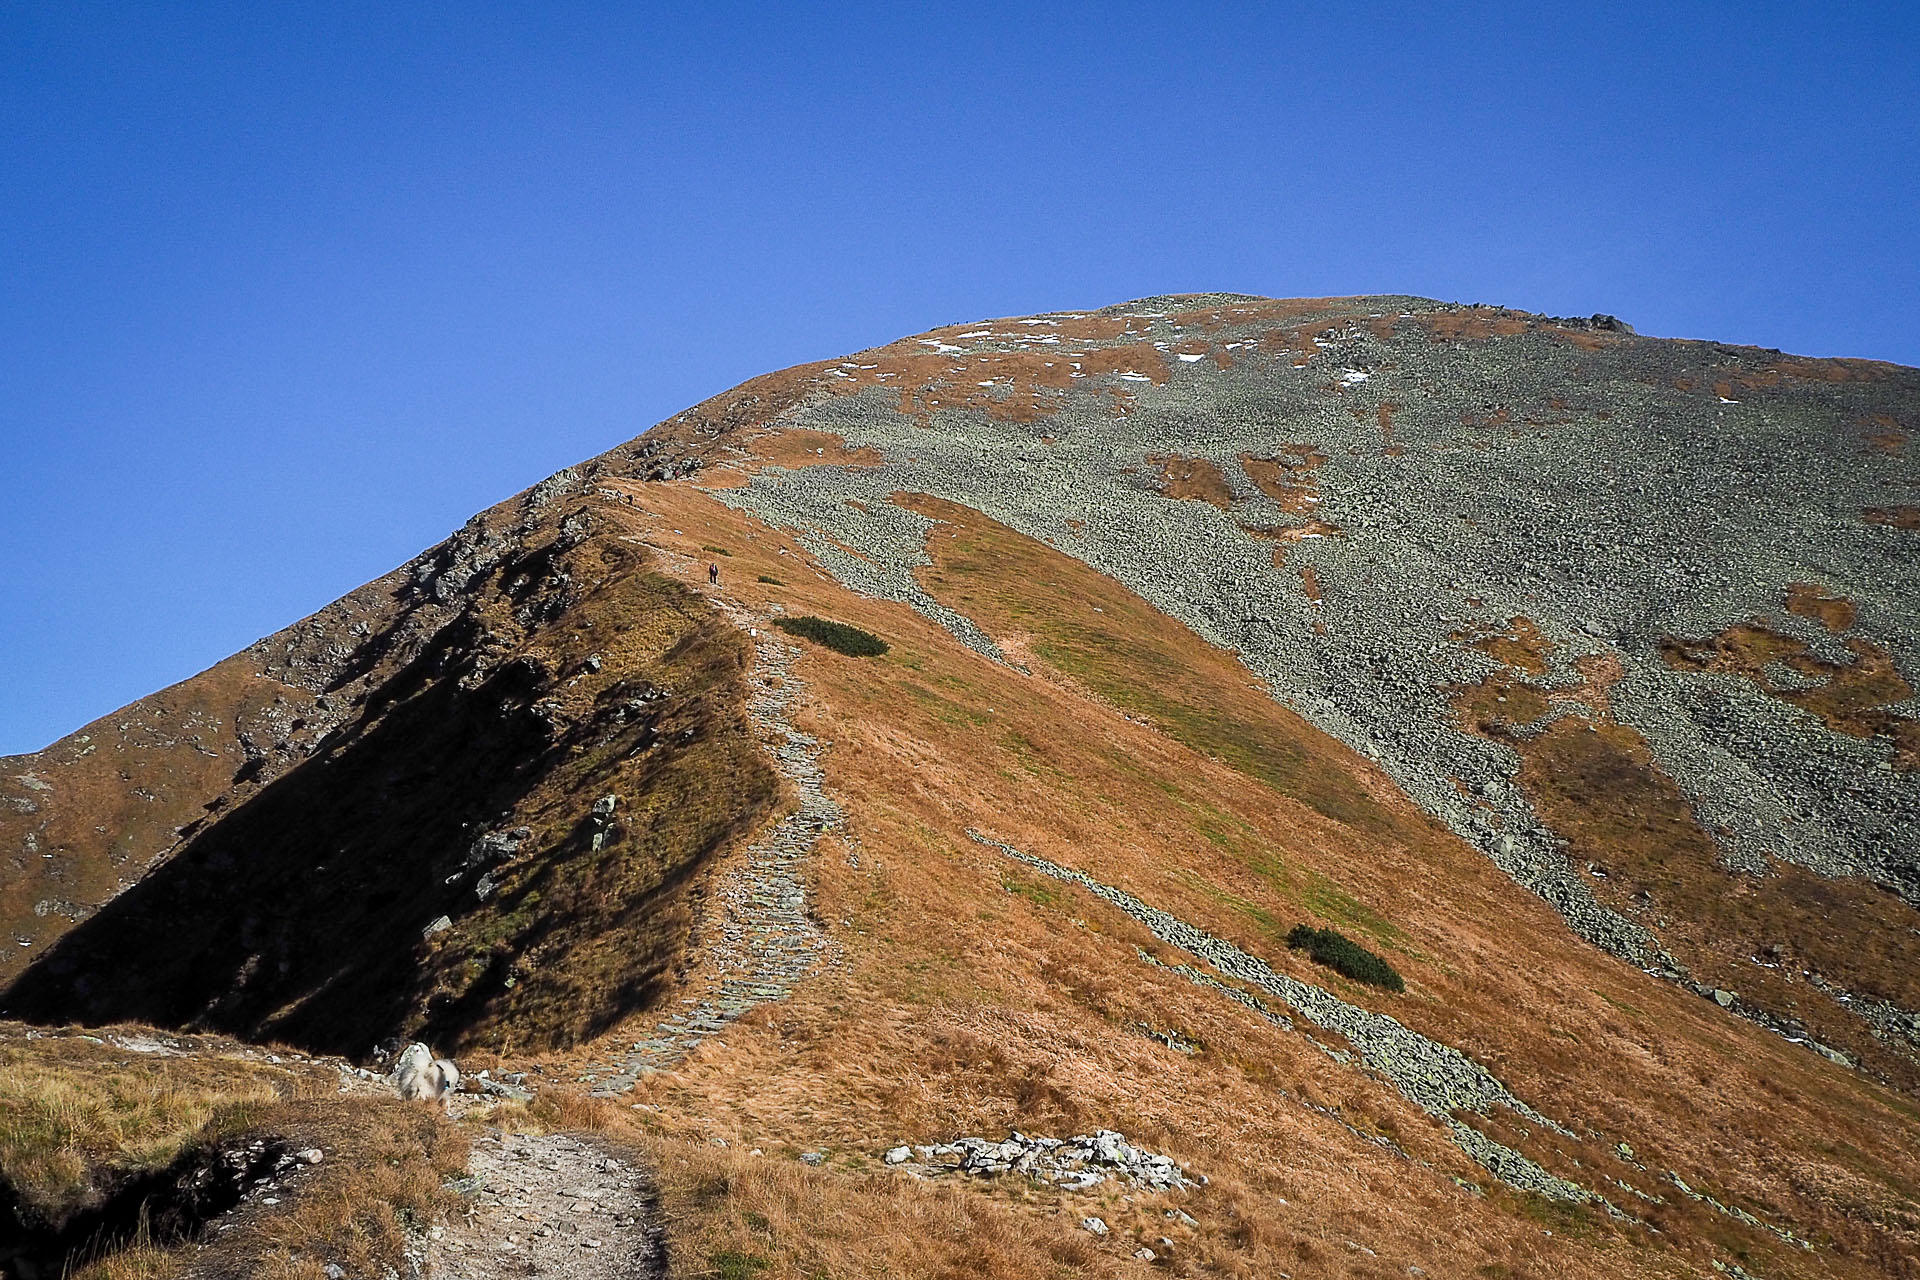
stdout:
[[(925, 591), (937, 520), (906, 495), (985, 512), (1238, 652), (1582, 936), (1914, 1079), (1920, 372), (1607, 317), (1175, 297), (739, 399), (776, 393), (833, 447), (716, 495), (849, 587), (998, 656)], [(630, 457), (726, 474), (753, 447), (730, 409)]]

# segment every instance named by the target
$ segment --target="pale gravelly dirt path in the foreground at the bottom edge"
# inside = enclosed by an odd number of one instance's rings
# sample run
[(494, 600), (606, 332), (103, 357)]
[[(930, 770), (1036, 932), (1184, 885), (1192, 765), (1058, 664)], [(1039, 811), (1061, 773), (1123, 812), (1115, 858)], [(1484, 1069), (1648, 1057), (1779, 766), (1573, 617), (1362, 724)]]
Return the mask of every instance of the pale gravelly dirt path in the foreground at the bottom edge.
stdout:
[(465, 1215), (434, 1228), (428, 1280), (664, 1280), (647, 1174), (572, 1134), (474, 1138)]

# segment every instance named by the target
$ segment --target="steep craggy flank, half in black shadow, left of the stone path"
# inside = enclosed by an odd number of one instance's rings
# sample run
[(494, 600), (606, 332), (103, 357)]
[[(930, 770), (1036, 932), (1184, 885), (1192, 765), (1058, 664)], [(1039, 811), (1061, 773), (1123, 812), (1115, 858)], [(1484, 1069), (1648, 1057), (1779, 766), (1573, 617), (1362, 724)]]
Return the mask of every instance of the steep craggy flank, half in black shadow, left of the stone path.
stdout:
[[(624, 547), (559, 574), (555, 551), (503, 566), (511, 585), (476, 591), (353, 723), (65, 935), (8, 1013), (359, 1055), (396, 1034), (564, 1046), (657, 998), (687, 879), (776, 781), (732, 628)], [(513, 616), (540, 647), (499, 660)], [(605, 658), (570, 652), (591, 645)], [(591, 814), (603, 794), (616, 818)]]

